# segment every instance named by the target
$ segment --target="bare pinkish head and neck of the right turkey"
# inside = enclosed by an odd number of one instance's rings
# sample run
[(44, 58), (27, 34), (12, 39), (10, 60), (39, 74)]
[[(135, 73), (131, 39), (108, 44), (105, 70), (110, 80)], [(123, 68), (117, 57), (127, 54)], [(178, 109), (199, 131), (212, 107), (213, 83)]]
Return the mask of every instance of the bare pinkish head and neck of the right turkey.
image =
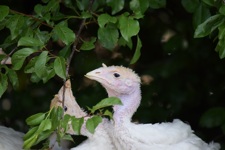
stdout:
[(122, 66), (103, 67), (85, 75), (105, 87), (108, 97), (118, 97), (123, 105), (113, 107), (114, 121), (129, 120), (141, 101), (140, 78), (131, 69)]

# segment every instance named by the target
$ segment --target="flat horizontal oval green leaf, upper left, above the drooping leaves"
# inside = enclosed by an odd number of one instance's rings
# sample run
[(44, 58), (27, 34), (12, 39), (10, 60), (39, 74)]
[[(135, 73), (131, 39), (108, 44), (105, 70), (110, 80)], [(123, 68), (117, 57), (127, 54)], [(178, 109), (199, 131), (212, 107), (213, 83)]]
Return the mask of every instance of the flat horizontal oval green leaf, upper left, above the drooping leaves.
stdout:
[(44, 44), (37, 38), (21, 37), (17, 46), (43, 46)]

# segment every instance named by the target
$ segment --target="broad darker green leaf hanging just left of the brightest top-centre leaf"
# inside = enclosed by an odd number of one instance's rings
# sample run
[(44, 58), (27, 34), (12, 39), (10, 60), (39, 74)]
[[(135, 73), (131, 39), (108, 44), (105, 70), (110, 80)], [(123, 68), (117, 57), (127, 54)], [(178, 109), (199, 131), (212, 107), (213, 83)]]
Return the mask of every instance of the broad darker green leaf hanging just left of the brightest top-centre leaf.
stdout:
[(107, 25), (98, 29), (98, 39), (103, 47), (112, 50), (118, 41), (119, 32), (114, 26)]

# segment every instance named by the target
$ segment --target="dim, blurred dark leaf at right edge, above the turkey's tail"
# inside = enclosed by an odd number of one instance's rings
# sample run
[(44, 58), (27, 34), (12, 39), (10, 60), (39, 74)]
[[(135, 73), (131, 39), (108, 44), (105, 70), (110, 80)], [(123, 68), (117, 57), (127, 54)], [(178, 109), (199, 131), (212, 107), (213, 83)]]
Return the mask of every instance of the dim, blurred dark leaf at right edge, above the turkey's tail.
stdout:
[(202, 127), (213, 128), (225, 123), (225, 108), (214, 107), (206, 111), (200, 118)]

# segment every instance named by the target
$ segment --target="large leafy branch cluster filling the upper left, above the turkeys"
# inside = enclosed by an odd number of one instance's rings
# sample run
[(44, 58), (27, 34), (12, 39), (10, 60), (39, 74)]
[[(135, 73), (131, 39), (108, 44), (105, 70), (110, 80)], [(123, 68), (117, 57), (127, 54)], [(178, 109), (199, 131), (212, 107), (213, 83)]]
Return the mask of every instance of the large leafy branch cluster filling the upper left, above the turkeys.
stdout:
[[(142, 47), (138, 37), (139, 20), (149, 8), (158, 9), (165, 5), (165, 0), (42, 0), (41, 4), (35, 5), (33, 15), (0, 5), (0, 30), (10, 31), (0, 44), (0, 48), (7, 53), (0, 55), (0, 61), (12, 57), (11, 68), (4, 63), (0, 65), (0, 68), (7, 70), (0, 73), (0, 96), (8, 87), (8, 79), (13, 87), (18, 87), (17, 72), (20, 70), (29, 74), (34, 83), (46, 83), (56, 75), (65, 81), (69, 77), (69, 69), (66, 68), (69, 68), (73, 52), (93, 50), (97, 42), (111, 51), (118, 45), (133, 49), (132, 37), (137, 37), (135, 52), (130, 60), (131, 64), (135, 63)], [(71, 22), (81, 20), (82, 27), (92, 23), (99, 26), (97, 34), (89, 40), (79, 35), (83, 28), (78, 33), (71, 28), (74, 26)], [(51, 45), (58, 45), (58, 48)]]

